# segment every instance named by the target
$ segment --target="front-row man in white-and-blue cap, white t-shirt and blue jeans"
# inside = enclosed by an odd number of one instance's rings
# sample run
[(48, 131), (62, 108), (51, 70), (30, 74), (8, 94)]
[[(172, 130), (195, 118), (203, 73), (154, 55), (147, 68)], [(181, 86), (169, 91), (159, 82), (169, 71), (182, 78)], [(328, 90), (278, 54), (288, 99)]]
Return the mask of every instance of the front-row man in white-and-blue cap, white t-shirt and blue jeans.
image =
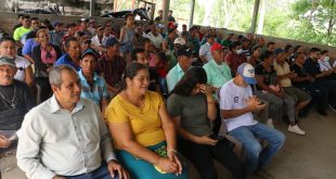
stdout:
[[(229, 133), (242, 142), (246, 152), (246, 171), (273, 178), (264, 167), (283, 146), (285, 136), (254, 119), (253, 112), (266, 107), (266, 104), (253, 95), (250, 85), (256, 82), (255, 68), (247, 63), (241, 64), (236, 76), (224, 84), (220, 90), (221, 116)], [(258, 139), (267, 140), (268, 148), (262, 149)]]

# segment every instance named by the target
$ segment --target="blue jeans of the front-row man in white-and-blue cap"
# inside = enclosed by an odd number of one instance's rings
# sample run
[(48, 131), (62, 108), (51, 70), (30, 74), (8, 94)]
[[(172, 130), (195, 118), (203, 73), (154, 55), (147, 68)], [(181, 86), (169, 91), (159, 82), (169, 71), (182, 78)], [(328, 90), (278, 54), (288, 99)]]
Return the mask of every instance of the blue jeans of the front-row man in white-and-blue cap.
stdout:
[[(283, 146), (285, 136), (261, 123), (251, 126), (241, 126), (229, 133), (242, 142), (245, 150), (245, 167), (247, 172), (253, 172), (258, 167), (264, 167)], [(262, 149), (258, 138), (267, 140), (268, 146)]]

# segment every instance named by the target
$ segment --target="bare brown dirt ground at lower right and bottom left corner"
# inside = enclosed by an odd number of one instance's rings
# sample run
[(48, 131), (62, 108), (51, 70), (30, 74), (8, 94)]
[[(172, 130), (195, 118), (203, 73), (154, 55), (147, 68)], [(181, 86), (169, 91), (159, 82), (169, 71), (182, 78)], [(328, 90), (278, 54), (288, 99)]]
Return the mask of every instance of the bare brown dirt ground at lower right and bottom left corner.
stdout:
[[(268, 170), (276, 179), (336, 179), (336, 113), (328, 111), (322, 117), (312, 112), (299, 125), (306, 136), (287, 132), (283, 122), (275, 124), (286, 135), (286, 143)], [(15, 158), (2, 158), (0, 166), (2, 179), (25, 178), (15, 167)]]

